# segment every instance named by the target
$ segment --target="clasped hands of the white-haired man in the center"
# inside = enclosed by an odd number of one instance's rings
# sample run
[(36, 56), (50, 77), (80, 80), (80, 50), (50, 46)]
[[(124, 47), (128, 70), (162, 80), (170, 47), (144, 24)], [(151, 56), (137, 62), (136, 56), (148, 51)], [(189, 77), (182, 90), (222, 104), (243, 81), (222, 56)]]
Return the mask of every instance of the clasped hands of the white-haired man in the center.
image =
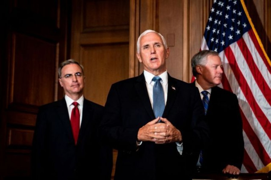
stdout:
[[(161, 120), (164, 123), (157, 123)], [(158, 117), (139, 129), (139, 141), (152, 141), (157, 144), (181, 142), (182, 134), (166, 118)]]

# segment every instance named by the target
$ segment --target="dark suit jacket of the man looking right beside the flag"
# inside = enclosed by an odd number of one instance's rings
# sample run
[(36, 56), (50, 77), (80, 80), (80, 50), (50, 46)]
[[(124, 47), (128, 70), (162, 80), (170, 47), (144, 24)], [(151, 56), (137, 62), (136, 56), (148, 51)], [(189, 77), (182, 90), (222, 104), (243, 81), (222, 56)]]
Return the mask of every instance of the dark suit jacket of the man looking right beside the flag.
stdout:
[(210, 143), (203, 153), (203, 170), (222, 173), (228, 164), (241, 169), (244, 139), (236, 95), (220, 87), (213, 87), (206, 121), (210, 128)]

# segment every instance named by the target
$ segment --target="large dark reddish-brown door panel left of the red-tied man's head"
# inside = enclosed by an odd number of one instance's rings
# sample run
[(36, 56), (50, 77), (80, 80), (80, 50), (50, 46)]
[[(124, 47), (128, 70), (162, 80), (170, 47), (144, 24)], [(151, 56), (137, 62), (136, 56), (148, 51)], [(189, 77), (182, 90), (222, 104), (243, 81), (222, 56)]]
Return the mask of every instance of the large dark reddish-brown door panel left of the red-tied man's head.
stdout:
[(13, 39), (9, 103), (40, 106), (54, 101), (57, 45), (17, 33)]

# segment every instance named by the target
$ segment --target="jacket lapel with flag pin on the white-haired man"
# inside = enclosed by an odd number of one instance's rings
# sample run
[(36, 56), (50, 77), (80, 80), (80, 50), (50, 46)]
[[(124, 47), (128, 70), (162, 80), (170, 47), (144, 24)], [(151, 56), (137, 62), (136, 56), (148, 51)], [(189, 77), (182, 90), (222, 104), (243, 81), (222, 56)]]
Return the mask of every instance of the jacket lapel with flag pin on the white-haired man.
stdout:
[(174, 79), (168, 74), (167, 103), (163, 113), (163, 117), (167, 117), (172, 105), (176, 100), (178, 90), (179, 89), (176, 86), (176, 81), (174, 81)]

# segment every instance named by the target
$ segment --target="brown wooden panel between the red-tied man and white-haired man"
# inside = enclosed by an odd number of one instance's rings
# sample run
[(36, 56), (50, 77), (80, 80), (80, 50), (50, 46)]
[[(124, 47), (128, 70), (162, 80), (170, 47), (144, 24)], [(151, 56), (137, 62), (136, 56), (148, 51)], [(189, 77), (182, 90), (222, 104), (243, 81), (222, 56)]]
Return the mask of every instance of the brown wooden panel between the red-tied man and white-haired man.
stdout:
[(83, 46), (84, 96), (104, 106), (111, 84), (129, 76), (129, 44)]

